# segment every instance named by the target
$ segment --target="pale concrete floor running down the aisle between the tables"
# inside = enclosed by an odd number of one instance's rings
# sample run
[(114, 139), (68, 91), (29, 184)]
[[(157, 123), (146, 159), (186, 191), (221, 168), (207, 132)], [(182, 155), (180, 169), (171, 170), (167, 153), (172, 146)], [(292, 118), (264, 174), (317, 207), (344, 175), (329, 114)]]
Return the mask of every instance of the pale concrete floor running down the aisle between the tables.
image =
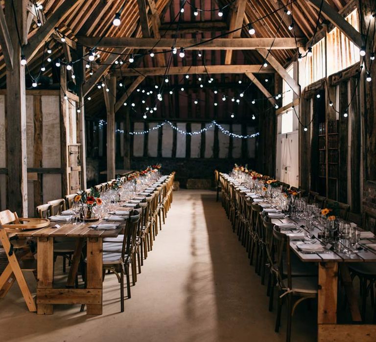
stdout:
[[(0, 340), (285, 341), (285, 323), (274, 332), (266, 286), (249, 265), (214, 192), (174, 192), (166, 224), (132, 287), (132, 299), (125, 300), (124, 313), (115, 276), (106, 276), (103, 288), (102, 316), (86, 316), (79, 305), (55, 306), (53, 315), (38, 316), (27, 311), (13, 286), (0, 300)], [(316, 340), (315, 305), (298, 307), (292, 341)]]

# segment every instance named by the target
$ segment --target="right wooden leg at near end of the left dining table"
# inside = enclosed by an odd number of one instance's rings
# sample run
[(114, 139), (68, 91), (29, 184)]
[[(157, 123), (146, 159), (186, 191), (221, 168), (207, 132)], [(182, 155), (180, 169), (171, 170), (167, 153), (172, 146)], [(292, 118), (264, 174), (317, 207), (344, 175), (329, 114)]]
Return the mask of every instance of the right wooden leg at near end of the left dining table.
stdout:
[(102, 315), (102, 238), (89, 237), (87, 241), (87, 289), (100, 290), (100, 304), (87, 304), (88, 315)]

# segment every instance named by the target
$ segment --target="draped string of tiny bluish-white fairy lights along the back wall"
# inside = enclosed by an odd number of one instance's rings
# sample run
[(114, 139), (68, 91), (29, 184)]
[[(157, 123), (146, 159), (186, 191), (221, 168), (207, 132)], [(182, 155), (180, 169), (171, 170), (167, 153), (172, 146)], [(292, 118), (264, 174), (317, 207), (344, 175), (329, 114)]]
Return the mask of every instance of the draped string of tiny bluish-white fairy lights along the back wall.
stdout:
[[(175, 126), (171, 121), (164, 120), (164, 122), (161, 122), (161, 123), (157, 124), (156, 126), (153, 126), (153, 127), (149, 128), (149, 129), (141, 130), (141, 131), (133, 131), (133, 132), (129, 132), (128, 134), (130, 134), (130, 135), (144, 135), (144, 134), (148, 134), (151, 131), (159, 129), (159, 128), (163, 127), (166, 124), (169, 125), (169, 126), (171, 126), (172, 129), (175, 129), (180, 134), (190, 135), (190, 136), (192, 136), (192, 135), (199, 135), (199, 134), (205, 133), (208, 129), (210, 129), (210, 128), (214, 127), (214, 126), (218, 127), (218, 129), (223, 134), (228, 135), (228, 136), (233, 137), (233, 138), (249, 139), (249, 138), (256, 138), (258, 135), (260, 135), (259, 132), (256, 132), (256, 133), (253, 133), (253, 134), (247, 134), (247, 135), (232, 133), (228, 129), (226, 129), (223, 126), (221, 126), (220, 124), (218, 124), (215, 120), (211, 121), (211, 123), (208, 126), (206, 126), (204, 128), (201, 128), (199, 130), (193, 131), (193, 132), (187, 132), (186, 130), (180, 129), (179, 127)], [(103, 128), (105, 125), (107, 125), (107, 122), (105, 120), (99, 120), (98, 127), (100, 129)], [(124, 129), (116, 129), (115, 131), (117, 133), (124, 133), (125, 132)]]

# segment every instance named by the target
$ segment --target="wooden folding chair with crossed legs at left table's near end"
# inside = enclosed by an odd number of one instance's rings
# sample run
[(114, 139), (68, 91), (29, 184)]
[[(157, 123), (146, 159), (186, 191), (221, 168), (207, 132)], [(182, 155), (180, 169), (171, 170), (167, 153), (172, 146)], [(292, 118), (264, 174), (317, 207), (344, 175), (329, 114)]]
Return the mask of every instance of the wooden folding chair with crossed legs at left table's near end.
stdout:
[(15, 230), (2, 227), (4, 224), (17, 225), (17, 223), (20, 223), (20, 221), (16, 213), (12, 213), (9, 210), (0, 212), (0, 239), (9, 261), (8, 265), (0, 276), (0, 298), (3, 298), (7, 294), (15, 280), (17, 280), (22, 295), (24, 296), (27, 308), (29, 311), (37, 311), (35, 301), (31, 296), (30, 289), (27, 286), (26, 280), (22, 273), (23, 270), (35, 271), (36, 260), (22, 260), (22, 258), (29, 254), (29, 252), (19, 257), (19, 260), (14, 253), (14, 249), (24, 249), (27, 247), (25, 240), (15, 240), (14, 242), (9, 240), (8, 234), (12, 235), (12, 232), (14, 233)]

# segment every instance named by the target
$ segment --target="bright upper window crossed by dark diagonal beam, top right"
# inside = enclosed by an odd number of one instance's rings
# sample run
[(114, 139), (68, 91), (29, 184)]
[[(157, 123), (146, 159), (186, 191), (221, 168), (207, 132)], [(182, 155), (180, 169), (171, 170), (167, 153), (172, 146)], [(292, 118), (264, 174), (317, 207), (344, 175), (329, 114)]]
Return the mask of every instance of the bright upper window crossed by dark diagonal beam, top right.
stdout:
[[(358, 14), (354, 9), (346, 18), (357, 31)], [(327, 35), (328, 75), (334, 74), (360, 61), (359, 48), (354, 45), (337, 27)]]

